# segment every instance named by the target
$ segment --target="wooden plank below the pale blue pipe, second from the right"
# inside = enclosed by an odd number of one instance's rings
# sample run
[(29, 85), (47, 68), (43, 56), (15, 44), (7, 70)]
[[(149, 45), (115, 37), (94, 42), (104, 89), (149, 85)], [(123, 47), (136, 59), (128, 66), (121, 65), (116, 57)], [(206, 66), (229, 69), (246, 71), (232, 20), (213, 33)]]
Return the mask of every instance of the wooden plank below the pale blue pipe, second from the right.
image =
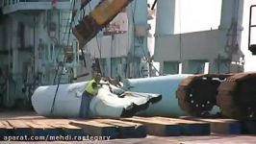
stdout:
[(210, 124), (206, 122), (167, 117), (154, 117), (154, 119), (178, 123), (184, 135), (209, 135), (211, 133)]

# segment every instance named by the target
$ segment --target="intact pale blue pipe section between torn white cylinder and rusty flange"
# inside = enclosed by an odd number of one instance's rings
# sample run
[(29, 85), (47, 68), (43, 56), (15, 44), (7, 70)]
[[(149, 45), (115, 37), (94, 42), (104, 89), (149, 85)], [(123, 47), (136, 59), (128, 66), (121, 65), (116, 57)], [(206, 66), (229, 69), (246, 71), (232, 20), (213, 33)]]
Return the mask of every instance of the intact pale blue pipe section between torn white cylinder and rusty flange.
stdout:
[(192, 75), (169, 75), (142, 79), (128, 79), (124, 81), (125, 90), (136, 92), (148, 92), (162, 94), (162, 100), (156, 103), (140, 115), (146, 116), (182, 116), (186, 115), (178, 106), (176, 90), (182, 80)]

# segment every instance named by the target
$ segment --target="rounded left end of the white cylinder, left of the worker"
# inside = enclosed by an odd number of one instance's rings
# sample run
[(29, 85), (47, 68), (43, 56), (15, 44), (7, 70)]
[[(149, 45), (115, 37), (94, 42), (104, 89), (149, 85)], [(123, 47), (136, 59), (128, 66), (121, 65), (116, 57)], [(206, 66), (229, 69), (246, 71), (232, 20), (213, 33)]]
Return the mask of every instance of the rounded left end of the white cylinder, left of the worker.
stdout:
[(32, 96), (32, 105), (40, 115), (76, 117), (79, 115), (81, 97), (78, 91), (83, 91), (87, 83), (60, 84), (56, 95), (54, 110), (51, 113), (57, 85), (39, 86)]

